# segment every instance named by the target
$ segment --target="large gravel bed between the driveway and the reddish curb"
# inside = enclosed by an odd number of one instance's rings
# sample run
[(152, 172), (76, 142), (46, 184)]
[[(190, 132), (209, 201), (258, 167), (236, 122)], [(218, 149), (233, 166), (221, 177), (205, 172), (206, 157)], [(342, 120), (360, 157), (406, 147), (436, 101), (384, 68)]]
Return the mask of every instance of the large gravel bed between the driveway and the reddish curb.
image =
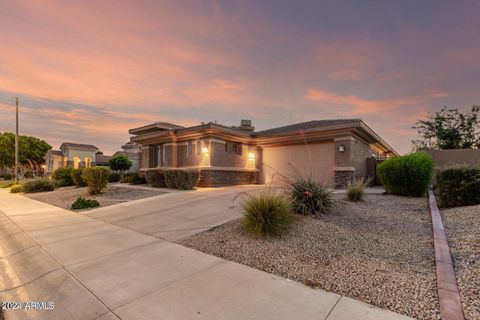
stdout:
[(440, 319), (425, 198), (335, 195), (331, 213), (300, 217), (282, 238), (246, 234), (241, 220), (180, 243), (417, 319)]

